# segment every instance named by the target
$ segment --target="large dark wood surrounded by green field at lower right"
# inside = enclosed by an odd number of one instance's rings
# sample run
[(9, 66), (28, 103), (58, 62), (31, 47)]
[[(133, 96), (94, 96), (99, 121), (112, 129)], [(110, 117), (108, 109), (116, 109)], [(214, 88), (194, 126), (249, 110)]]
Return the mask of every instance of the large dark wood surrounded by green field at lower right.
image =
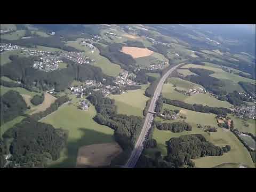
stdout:
[(205, 156), (221, 156), (231, 149), (230, 146), (223, 148), (214, 146), (201, 134), (182, 135), (167, 141), (167, 156), (165, 160), (174, 167), (183, 165), (194, 166), (191, 159)]

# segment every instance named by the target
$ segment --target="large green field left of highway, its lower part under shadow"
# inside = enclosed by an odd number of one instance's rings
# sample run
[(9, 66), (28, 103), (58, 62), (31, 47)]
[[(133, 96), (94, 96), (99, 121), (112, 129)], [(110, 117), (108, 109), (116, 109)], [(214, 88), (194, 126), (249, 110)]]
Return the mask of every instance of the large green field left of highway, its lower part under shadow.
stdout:
[[(77, 102), (77, 99), (74, 100)], [(96, 111), (92, 105), (89, 110), (83, 111), (73, 104), (67, 104), (42, 120), (43, 123), (50, 123), (55, 128), (62, 127), (69, 131), (66, 149), (62, 151), (61, 157), (50, 166), (75, 167), (79, 147), (114, 142), (114, 131), (94, 122), (95, 115)]]

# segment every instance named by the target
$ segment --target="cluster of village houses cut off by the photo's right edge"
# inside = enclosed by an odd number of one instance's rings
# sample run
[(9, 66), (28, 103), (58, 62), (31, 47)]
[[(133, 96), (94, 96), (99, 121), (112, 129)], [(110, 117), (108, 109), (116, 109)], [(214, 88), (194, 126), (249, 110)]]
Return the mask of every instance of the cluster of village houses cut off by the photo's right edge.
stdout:
[(237, 117), (239, 118), (249, 118), (256, 119), (256, 106), (246, 106), (246, 107), (234, 107), (230, 108)]

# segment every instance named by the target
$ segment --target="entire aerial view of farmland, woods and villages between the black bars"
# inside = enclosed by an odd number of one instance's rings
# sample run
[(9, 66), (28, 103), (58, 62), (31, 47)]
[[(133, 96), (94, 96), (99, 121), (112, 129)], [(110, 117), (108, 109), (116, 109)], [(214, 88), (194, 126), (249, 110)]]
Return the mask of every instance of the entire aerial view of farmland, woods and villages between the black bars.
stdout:
[(1, 168), (255, 168), (255, 25), (1, 24)]

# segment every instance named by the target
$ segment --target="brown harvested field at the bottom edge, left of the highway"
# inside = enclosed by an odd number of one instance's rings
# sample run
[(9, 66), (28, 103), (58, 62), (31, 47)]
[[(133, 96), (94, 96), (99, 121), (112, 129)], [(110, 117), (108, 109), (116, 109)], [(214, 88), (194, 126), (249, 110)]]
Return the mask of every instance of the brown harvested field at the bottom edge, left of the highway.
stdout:
[(122, 153), (122, 148), (117, 142), (83, 146), (78, 149), (76, 166), (107, 166), (120, 153)]

